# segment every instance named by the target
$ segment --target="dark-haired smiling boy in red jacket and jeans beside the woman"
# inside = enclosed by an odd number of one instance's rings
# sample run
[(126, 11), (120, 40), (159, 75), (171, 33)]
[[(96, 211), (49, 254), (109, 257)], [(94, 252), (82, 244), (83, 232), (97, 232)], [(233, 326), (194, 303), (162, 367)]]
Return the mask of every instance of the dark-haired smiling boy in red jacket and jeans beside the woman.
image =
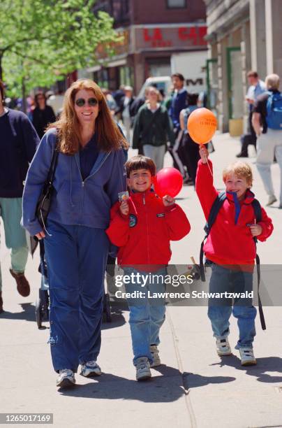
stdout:
[[(159, 198), (151, 184), (156, 175), (156, 165), (141, 155), (126, 162), (129, 199), (114, 204), (111, 211), (107, 236), (119, 247), (117, 262), (124, 267), (124, 274), (138, 276), (138, 273), (154, 273), (161, 278), (161, 284), (149, 283), (143, 287), (134, 285), (126, 291), (165, 291), (165, 265), (171, 257), (170, 241), (184, 238), (191, 227), (184, 211), (169, 195)], [(141, 301), (142, 300), (142, 301)], [(150, 366), (161, 364), (158, 355), (158, 337), (165, 320), (165, 302), (151, 302), (148, 294), (138, 302), (128, 300), (129, 324), (133, 343), (133, 364), (136, 379), (151, 377)]]

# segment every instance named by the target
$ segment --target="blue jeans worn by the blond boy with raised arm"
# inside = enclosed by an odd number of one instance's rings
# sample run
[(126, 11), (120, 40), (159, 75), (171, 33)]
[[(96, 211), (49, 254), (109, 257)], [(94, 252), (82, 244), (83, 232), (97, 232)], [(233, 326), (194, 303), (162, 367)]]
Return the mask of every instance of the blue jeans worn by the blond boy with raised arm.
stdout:
[[(226, 269), (211, 264), (209, 292), (251, 292), (253, 273)], [(252, 348), (255, 337), (256, 308), (251, 299), (237, 299), (232, 307), (232, 299), (209, 299), (208, 316), (216, 338), (225, 338), (229, 334), (231, 313), (237, 318), (239, 341), (236, 349)]]

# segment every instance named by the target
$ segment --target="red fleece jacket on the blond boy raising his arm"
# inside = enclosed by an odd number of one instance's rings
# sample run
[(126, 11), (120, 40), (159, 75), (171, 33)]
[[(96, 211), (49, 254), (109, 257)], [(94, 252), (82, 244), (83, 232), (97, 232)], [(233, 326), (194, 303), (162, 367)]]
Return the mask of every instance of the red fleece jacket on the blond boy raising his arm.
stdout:
[[(219, 192), (214, 187), (211, 161), (209, 166), (198, 162), (196, 176), (196, 192), (204, 211), (206, 220), (211, 206)], [(238, 201), (233, 194), (227, 194), (227, 199), (218, 211), (216, 221), (204, 245), (207, 259), (216, 264), (253, 264), (255, 259), (255, 243), (247, 224), (255, 222), (255, 213), (251, 205), (255, 195), (247, 190), (244, 201)], [(235, 201), (235, 198), (237, 199)], [(238, 206), (239, 204), (239, 206)], [(238, 215), (239, 214), (239, 215)], [(265, 241), (273, 231), (272, 220), (262, 208), (262, 221), (259, 222), (262, 233), (258, 241)]]

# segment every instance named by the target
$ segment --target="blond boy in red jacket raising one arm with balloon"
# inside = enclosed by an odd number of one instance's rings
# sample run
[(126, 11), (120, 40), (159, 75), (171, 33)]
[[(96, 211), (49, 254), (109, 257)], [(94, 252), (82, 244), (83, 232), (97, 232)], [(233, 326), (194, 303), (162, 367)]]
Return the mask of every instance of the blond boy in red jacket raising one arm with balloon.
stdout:
[[(212, 164), (209, 152), (200, 145), (200, 157), (196, 176), (196, 192), (206, 219), (218, 192), (213, 185)], [(251, 166), (236, 162), (223, 171), (226, 199), (211, 227), (204, 245), (205, 256), (211, 264), (210, 292), (251, 292), (253, 290), (253, 266), (255, 262), (255, 241), (265, 241), (273, 231), (272, 220), (263, 208), (262, 220), (257, 223), (251, 192), (253, 173)], [(256, 308), (252, 299), (210, 300), (208, 316), (216, 337), (218, 355), (230, 355), (228, 342), (229, 318), (231, 313), (237, 318), (239, 327), (239, 350), (243, 366), (256, 364), (253, 355)]]

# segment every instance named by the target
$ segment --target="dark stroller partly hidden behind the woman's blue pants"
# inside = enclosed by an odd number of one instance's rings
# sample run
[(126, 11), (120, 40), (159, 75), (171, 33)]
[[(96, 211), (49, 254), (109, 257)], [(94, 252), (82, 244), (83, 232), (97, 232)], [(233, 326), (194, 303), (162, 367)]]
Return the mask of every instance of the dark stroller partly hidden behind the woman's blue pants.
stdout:
[[(38, 297), (36, 299), (36, 324), (38, 329), (42, 328), (44, 321), (49, 321), (49, 284), (47, 276), (47, 264), (45, 260), (45, 250), (43, 240), (39, 241), (40, 250), (40, 265), (38, 271), (41, 273), (40, 289), (38, 290)], [(104, 294), (103, 300), (103, 318), (106, 322), (111, 322), (111, 308), (110, 308), (110, 296)]]

